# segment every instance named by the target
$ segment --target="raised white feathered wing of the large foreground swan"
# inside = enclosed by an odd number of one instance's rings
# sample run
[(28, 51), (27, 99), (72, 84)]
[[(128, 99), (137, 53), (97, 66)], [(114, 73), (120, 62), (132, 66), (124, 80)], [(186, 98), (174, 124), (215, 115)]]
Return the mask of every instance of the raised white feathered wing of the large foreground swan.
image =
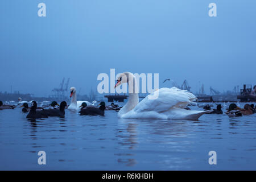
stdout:
[[(157, 94), (158, 98), (154, 100), (150, 99), (150, 96), (156, 96)], [(139, 102), (139, 104), (134, 107), (134, 111), (137, 113), (143, 111), (156, 111), (161, 113), (170, 110), (172, 107), (184, 108), (195, 100), (196, 96), (187, 90), (180, 90), (176, 87), (160, 88)]]

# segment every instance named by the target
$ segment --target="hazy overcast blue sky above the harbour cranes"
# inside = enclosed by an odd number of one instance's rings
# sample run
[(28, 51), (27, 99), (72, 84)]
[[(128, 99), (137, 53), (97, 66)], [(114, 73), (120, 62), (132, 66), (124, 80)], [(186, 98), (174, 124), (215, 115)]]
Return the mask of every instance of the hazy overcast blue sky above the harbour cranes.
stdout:
[[(47, 16), (38, 16), (44, 2)], [(217, 4), (210, 18), (208, 5)], [(88, 93), (99, 73), (159, 73), (220, 90), (256, 84), (256, 1), (1, 0), (0, 91), (48, 96), (63, 77)], [(170, 82), (160, 87), (170, 86)]]

